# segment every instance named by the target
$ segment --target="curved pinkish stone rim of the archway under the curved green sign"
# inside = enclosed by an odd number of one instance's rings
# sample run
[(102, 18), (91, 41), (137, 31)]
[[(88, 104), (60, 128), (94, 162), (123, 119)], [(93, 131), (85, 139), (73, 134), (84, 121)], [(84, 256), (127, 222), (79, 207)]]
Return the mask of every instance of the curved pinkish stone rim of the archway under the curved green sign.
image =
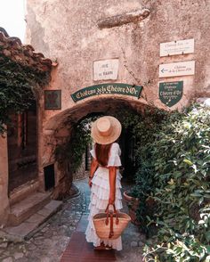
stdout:
[[(91, 113), (103, 113), (104, 115), (115, 115), (117, 111), (136, 111), (141, 113), (147, 105), (135, 99), (127, 99), (119, 97), (100, 97), (87, 100), (76, 104), (74, 107), (66, 111), (62, 111), (49, 119), (43, 130), (42, 144), (40, 145), (39, 157), (42, 160), (42, 167), (39, 167), (39, 177), (42, 188), (45, 190), (44, 168), (54, 165), (55, 186), (53, 197), (57, 198), (60, 192), (67, 190), (67, 172), (61, 170), (58, 163), (54, 160), (53, 151), (58, 143), (62, 143), (65, 139), (72, 135), (72, 128), (80, 119), (84, 119)], [(66, 126), (66, 123), (69, 126)], [(67, 167), (66, 167), (67, 168)], [(66, 170), (66, 168), (64, 168)]]

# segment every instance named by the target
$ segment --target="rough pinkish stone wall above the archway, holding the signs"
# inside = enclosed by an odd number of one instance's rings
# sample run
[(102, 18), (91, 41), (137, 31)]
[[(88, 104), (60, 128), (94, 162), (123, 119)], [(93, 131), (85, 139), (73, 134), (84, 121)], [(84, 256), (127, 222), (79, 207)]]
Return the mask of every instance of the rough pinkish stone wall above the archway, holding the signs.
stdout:
[[(78, 119), (87, 112), (100, 111), (103, 98), (92, 96), (81, 102), (72, 101), (70, 94), (85, 86), (104, 82), (128, 83), (143, 86), (143, 97), (137, 100), (125, 95), (115, 99), (138, 107), (152, 103), (166, 108), (158, 98), (158, 83), (183, 81), (183, 96), (171, 109), (181, 109), (191, 99), (210, 94), (210, 2), (208, 0), (51, 0), (27, 1), (27, 42), (37, 52), (57, 61), (52, 81), (46, 89), (61, 89), (61, 110), (44, 111), (44, 97), (39, 101), (39, 163), (52, 160), (53, 130), (61, 127), (61, 119), (69, 114)], [(100, 29), (99, 21), (124, 16), (127, 12), (149, 9), (149, 16), (120, 26)], [(117, 17), (118, 19), (119, 17)], [(159, 56), (160, 43), (195, 39), (195, 52)], [(119, 59), (115, 81), (93, 81), (93, 61)], [(175, 61), (196, 61), (194, 76), (159, 78), (158, 66)], [(108, 105), (109, 107), (109, 105)], [(108, 108), (107, 107), (107, 108)], [(53, 121), (52, 121), (53, 119)], [(62, 126), (63, 127), (63, 126)], [(48, 130), (47, 130), (48, 129)], [(40, 181), (43, 166), (39, 167)]]

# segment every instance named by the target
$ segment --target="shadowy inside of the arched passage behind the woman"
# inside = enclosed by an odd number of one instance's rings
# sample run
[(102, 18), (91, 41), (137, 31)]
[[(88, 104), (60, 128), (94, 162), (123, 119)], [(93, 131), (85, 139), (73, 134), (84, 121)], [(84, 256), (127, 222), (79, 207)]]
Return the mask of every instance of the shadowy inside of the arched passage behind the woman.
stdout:
[[(85, 134), (83, 132), (80, 133), (80, 131), (77, 128), (81, 126), (82, 123), (84, 123), (82, 124), (84, 126), (79, 128), (85, 129), (85, 125), (90, 125), (93, 120), (104, 115), (116, 117), (122, 123), (125, 112), (127, 112), (128, 114), (128, 112), (136, 111), (136, 108), (133, 108), (130, 103), (117, 99), (106, 99), (105, 102), (101, 103), (97, 101), (97, 105), (94, 101), (93, 105), (90, 106), (87, 111), (85, 111), (85, 109), (83, 108), (81, 111), (81, 116), (77, 116), (79, 111), (74, 111), (74, 114), (69, 115), (68, 117), (67, 114), (65, 114), (66, 118), (63, 119), (62, 125), (60, 124), (58, 129), (56, 129), (56, 139), (58, 147), (56, 148), (57, 150), (55, 150), (55, 160), (58, 162), (58, 166), (62, 168), (62, 175), (56, 175), (58, 176), (56, 177), (56, 181), (60, 179), (59, 176), (69, 176), (71, 177), (69, 178), (69, 181), (72, 182), (73, 180), (84, 178), (89, 174), (88, 171), (90, 170), (92, 160), (90, 150), (93, 148), (93, 142), (86, 143), (85, 140), (81, 139), (81, 137), (85, 137)], [(119, 146), (122, 151), (122, 168), (120, 171), (125, 182), (133, 183), (133, 177), (136, 171), (134, 155), (135, 139), (129, 127), (124, 127), (123, 123), (122, 127), (122, 134), (117, 140), (117, 143), (119, 143)], [(66, 135), (66, 138), (64, 139), (63, 129), (65, 128), (66, 130), (69, 130), (69, 135)], [(59, 130), (62, 130), (61, 141), (59, 139)], [(90, 127), (89, 129), (87, 128), (86, 133), (90, 134)], [(79, 148), (78, 144), (81, 144)], [(83, 154), (79, 154), (81, 148), (84, 148)], [(57, 154), (60, 152), (63, 153), (63, 155)], [(64, 160), (66, 160), (66, 163), (63, 162)], [(77, 171), (75, 171), (77, 160), (81, 161), (79, 168), (77, 168)], [(67, 183), (69, 183), (69, 181)]]

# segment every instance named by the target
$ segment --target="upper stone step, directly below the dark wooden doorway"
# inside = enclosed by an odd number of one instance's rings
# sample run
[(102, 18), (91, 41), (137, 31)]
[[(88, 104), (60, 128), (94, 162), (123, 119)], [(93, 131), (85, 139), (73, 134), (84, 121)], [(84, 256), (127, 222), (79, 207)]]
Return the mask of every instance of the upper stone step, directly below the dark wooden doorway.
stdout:
[(20, 225), (27, 220), (51, 201), (50, 195), (50, 192), (33, 192), (24, 200), (12, 205), (8, 225)]

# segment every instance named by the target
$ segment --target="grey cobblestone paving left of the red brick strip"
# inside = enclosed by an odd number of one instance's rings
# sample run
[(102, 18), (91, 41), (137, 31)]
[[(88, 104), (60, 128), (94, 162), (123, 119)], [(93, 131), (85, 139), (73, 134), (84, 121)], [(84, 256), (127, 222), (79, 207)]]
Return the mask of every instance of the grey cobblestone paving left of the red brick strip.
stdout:
[(3, 242), (0, 244), (1, 262), (59, 262), (71, 233), (86, 212), (86, 181), (76, 182), (81, 190), (77, 198), (63, 203), (62, 209), (54, 214), (28, 241), (21, 243)]

